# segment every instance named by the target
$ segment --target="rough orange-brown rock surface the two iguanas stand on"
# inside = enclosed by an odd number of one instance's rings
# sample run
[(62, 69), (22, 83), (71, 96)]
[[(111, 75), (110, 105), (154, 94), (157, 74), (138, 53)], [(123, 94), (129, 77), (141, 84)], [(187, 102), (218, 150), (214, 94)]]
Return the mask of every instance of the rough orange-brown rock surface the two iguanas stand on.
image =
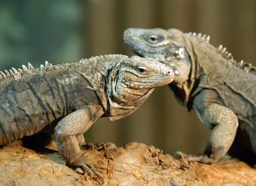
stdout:
[[(244, 162), (211, 165), (176, 160), (160, 149), (136, 142), (124, 147), (110, 144), (106, 150), (88, 150), (88, 157), (108, 166), (104, 186), (255, 186), (256, 169)], [(55, 142), (46, 148), (29, 149), (22, 141), (0, 149), (0, 183), (40, 186), (98, 186), (96, 176), (75, 172), (57, 152)]]

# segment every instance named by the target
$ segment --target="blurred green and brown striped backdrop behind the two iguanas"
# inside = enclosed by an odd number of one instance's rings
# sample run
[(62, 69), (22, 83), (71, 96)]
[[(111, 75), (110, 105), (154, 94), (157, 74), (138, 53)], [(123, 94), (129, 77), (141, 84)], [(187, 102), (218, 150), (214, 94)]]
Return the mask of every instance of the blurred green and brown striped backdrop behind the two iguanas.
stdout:
[[(256, 65), (255, 0), (1, 0), (0, 70), (102, 54), (132, 56), (122, 40), (129, 27), (201, 32), (211, 36), (212, 45), (227, 47), (236, 60)], [(137, 141), (173, 155), (177, 150), (202, 153), (209, 134), (195, 112), (187, 113), (165, 86), (126, 118), (100, 118), (85, 137), (117, 146)]]

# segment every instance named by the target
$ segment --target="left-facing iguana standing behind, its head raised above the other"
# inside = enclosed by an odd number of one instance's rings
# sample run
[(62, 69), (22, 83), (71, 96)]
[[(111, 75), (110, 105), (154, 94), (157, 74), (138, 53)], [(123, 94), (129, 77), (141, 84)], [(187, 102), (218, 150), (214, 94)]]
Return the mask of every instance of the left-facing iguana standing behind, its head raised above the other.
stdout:
[(183, 155), (201, 163), (218, 161), (234, 139), (234, 144), (256, 154), (256, 68), (236, 62), (227, 48), (215, 48), (209, 39), (174, 28), (124, 31), (124, 41), (132, 51), (174, 69), (169, 87), (177, 101), (188, 111), (195, 110), (212, 130), (204, 154), (175, 153), (175, 157)]

